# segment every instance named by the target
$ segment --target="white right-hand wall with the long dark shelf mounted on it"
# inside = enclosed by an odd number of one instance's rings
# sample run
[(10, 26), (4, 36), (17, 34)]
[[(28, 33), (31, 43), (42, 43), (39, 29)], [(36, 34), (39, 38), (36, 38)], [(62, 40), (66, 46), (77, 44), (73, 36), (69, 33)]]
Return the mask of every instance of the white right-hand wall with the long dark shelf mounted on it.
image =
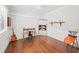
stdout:
[[(48, 23), (48, 36), (57, 38), (61, 41), (68, 35), (68, 30), (71, 27), (77, 27), (79, 29), (79, 6), (64, 6), (55, 11), (48, 12), (42, 16), (50, 21), (58, 21), (62, 19), (65, 21), (60, 27), (59, 24), (53, 26)], [(79, 35), (78, 35), (79, 40)]]

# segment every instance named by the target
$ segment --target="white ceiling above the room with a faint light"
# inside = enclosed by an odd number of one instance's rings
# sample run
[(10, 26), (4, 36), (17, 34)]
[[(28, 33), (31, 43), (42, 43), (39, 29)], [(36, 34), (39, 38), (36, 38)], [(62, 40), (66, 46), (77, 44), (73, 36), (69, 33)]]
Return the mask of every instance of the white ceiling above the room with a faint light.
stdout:
[(7, 5), (10, 13), (42, 15), (54, 11), (64, 5)]

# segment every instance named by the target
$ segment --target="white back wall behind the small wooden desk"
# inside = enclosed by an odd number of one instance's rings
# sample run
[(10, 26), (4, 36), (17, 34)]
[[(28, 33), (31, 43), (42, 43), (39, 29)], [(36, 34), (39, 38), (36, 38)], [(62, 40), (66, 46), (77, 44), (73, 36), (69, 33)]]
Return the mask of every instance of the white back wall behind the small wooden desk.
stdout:
[(23, 38), (23, 28), (36, 28), (36, 31), (38, 32), (38, 17), (36, 16), (27, 16), (27, 15), (21, 15), (21, 14), (11, 14), (12, 16), (12, 26), (14, 28), (14, 32), (17, 36), (17, 39)]

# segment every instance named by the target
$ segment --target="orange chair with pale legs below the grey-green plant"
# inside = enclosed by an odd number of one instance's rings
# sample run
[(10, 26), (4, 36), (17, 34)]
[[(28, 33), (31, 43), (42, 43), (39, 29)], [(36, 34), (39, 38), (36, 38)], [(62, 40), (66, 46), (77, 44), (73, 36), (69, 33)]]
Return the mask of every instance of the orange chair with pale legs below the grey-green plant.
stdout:
[(66, 44), (67, 52), (73, 52), (74, 49), (72, 48), (78, 47), (77, 36), (69, 34), (67, 37), (64, 38), (64, 43)]

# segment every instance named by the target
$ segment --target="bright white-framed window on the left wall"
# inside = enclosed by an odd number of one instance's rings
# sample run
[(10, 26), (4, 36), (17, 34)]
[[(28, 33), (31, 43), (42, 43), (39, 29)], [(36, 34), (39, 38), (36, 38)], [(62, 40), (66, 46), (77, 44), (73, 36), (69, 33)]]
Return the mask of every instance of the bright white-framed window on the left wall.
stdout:
[(0, 6), (0, 33), (7, 29), (7, 10), (5, 6)]

